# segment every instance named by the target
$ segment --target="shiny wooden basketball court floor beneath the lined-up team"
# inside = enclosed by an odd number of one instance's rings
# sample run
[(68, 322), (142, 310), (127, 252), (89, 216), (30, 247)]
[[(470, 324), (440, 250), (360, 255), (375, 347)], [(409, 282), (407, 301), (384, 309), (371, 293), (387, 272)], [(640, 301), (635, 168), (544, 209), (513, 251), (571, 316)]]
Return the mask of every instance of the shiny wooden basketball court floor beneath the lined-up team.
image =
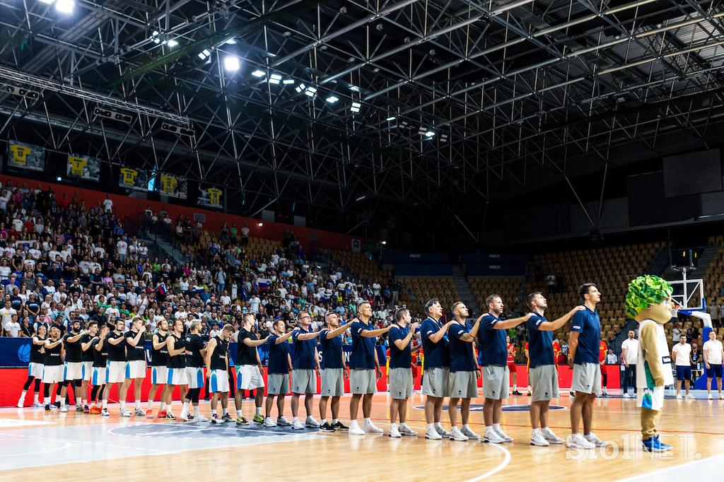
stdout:
[[(343, 420), (348, 416), (348, 401), (342, 399)], [(667, 457), (653, 459), (638, 449), (639, 410), (633, 399), (597, 401), (594, 431), (600, 439), (612, 441), (615, 448), (586, 454), (563, 446), (531, 447), (528, 412), (520, 406), (529, 402), (525, 396), (510, 399), (513, 411), (503, 413), (502, 426), (515, 438), (504, 445), (429, 441), (423, 436), (390, 439), (387, 402), (387, 394), (377, 394), (373, 407), (374, 423), (385, 429), (384, 436), (266, 431), (253, 423), (237, 428), (233, 424), (120, 419), (117, 406), (111, 406), (113, 415), (109, 418), (31, 408), (2, 409), (0, 480), (124, 478), (135, 482), (168, 476), (174, 481), (201, 481), (234, 476), (253, 481), (480, 481), (532, 476), (539, 481), (573, 481), (581, 476), (619, 480), (645, 475), (647, 481), (666, 481), (684, 464), (699, 465), (687, 468), (689, 475), (697, 477), (702, 471), (724, 467), (720, 455), (724, 454), (724, 400), (667, 399), (660, 431), (662, 440), (674, 450)], [(413, 397), (408, 422), (421, 435), (422, 402), (421, 395)], [(568, 395), (563, 395), (557, 405), (563, 408), (550, 413), (550, 426), (565, 437), (570, 433)], [(317, 410), (316, 400), (314, 408)], [(174, 411), (178, 414), (179, 407)], [(209, 415), (207, 404), (203, 412)], [(251, 400), (245, 401), (244, 413), (251, 420)], [(288, 398), (287, 418), (291, 419)], [(482, 413), (476, 411), (471, 418), (473, 429), (482, 434)]]

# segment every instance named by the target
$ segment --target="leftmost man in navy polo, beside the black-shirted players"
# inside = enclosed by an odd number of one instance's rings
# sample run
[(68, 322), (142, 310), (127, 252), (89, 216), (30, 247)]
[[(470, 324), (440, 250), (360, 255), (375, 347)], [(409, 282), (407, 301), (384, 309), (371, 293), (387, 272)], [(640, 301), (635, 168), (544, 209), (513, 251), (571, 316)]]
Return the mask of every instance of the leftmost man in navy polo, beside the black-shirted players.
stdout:
[[(284, 398), (289, 392), (289, 374), (292, 373), (292, 357), (289, 354), (289, 343), (287, 343), (287, 339), (292, 336), (292, 332), (287, 331), (285, 333), (287, 324), (281, 318), (274, 321), (271, 328), (274, 330), (274, 334), (269, 335), (266, 339), (266, 342), (269, 343), (269, 363), (266, 367), (268, 371), (266, 379), (269, 387), (266, 389), (264, 426), (288, 427), (292, 424), (284, 416)], [(239, 389), (237, 389), (238, 392), (240, 392)], [(276, 422), (271, 420), (271, 405), (274, 405), (274, 395), (277, 395), (277, 410), (279, 411)]]

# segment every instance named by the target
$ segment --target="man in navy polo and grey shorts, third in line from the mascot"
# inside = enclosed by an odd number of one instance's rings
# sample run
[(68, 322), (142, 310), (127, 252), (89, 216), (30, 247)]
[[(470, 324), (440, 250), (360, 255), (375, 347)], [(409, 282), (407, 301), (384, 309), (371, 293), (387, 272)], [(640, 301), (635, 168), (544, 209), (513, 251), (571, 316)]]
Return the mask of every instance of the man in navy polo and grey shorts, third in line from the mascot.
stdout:
[(501, 320), (503, 308), (500, 295), (490, 295), (485, 299), (488, 312), (480, 319), (480, 331), (478, 342), (481, 353), (481, 371), (483, 373), (483, 395), (485, 397), (483, 408), (483, 420), (485, 431), (481, 441), (492, 444), (502, 444), (513, 441), (500, 428), (502, 416), (502, 401), (508, 398), (508, 337), (505, 331), (525, 323), (531, 318), (531, 313), (521, 318), (512, 320)]

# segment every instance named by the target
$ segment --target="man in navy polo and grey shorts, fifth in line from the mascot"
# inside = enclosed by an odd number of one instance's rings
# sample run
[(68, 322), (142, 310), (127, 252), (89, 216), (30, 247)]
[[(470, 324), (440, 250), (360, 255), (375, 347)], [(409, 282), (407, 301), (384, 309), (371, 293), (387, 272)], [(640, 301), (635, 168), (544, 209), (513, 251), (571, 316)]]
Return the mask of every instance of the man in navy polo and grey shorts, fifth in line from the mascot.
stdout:
[(425, 420), (427, 428), (425, 438), (440, 440), (450, 438), (450, 432), (440, 425), (442, 415), (442, 402), (450, 397), (450, 342), (447, 338), (447, 329), (455, 321), (442, 324), (442, 307), (437, 299), (433, 298), (425, 303), (427, 318), (420, 326), (422, 348), (425, 350), (425, 379), (422, 393), (427, 395), (425, 400)]

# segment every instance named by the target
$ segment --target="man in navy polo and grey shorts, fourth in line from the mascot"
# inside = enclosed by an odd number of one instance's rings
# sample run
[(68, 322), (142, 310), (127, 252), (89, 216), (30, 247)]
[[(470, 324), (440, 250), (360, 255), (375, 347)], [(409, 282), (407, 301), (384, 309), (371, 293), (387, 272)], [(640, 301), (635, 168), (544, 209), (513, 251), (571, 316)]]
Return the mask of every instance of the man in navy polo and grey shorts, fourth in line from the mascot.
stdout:
[[(447, 329), (450, 334), (450, 401), (447, 403), (447, 415), (450, 416), (450, 440), (480, 440), (468, 425), (470, 420), (470, 400), (478, 396), (478, 377), (480, 371), (473, 342), (480, 329), (480, 316), (471, 329), (466, 326), (470, 315), (465, 303), (458, 301), (450, 308), (455, 318)], [(505, 377), (506, 388), (508, 376)], [(460, 401), (460, 417), (463, 419), (463, 430), (458, 428), (458, 400)]]

